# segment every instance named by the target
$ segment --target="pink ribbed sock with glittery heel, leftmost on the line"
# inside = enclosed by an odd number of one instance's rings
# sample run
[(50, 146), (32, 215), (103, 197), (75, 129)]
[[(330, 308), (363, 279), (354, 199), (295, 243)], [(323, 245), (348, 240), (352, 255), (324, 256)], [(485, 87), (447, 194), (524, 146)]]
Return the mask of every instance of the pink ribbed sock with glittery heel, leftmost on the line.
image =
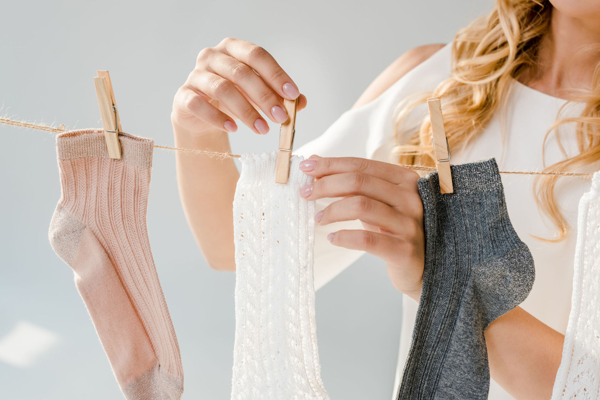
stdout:
[(62, 196), (50, 243), (74, 271), (125, 398), (177, 400), (179, 345), (146, 228), (154, 142), (128, 134), (119, 140), (122, 158), (114, 160), (101, 130), (58, 135)]

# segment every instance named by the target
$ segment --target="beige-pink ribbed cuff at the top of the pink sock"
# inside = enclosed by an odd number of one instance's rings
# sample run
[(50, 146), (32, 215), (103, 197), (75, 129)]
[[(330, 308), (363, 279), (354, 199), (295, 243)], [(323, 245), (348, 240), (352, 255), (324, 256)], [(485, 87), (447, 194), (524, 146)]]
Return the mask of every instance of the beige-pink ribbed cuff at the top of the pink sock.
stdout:
[[(134, 166), (151, 169), (154, 140), (145, 137), (119, 133), (121, 160)], [(104, 130), (80, 129), (56, 136), (58, 160), (71, 160), (82, 157), (110, 158), (104, 139)]]

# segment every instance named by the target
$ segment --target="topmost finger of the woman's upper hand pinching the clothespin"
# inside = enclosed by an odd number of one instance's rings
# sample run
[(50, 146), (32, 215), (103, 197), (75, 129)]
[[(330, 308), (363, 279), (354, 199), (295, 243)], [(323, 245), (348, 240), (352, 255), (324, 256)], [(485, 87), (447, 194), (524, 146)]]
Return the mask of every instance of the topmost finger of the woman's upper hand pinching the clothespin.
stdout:
[(250, 66), (281, 97), (294, 100), (300, 95), (298, 86), (292, 78), (262, 47), (245, 40), (228, 37), (224, 38), (217, 48)]

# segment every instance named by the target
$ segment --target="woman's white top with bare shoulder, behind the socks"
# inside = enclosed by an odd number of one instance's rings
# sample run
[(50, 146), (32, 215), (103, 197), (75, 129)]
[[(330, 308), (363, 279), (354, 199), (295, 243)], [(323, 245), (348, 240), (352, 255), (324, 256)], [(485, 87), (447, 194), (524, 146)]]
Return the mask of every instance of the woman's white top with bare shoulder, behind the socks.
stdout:
[[(321, 157), (362, 157), (389, 162), (396, 140), (395, 106), (409, 95), (436, 88), (442, 80), (449, 77), (450, 68), (451, 44), (447, 44), (370, 103), (343, 113), (322, 136), (302, 146), (295, 154), (304, 157), (312, 154)], [(495, 157), (500, 170), (541, 170), (542, 142), (548, 128), (556, 121), (560, 106), (565, 103), (566, 100), (536, 91), (515, 80), (506, 115), (501, 111), (496, 112), (485, 131), (472, 140), (463, 152), (454, 149), (451, 163), (463, 164)], [(400, 140), (406, 140), (427, 115), (427, 106), (423, 104), (419, 107), (413, 110), (407, 124), (412, 126), (401, 127)], [(580, 115), (581, 107), (581, 103), (569, 104), (562, 116)], [(561, 139), (568, 155), (577, 154), (572, 127), (562, 128)], [(564, 158), (553, 134), (548, 136), (545, 157), (547, 166)], [(590, 166), (586, 172), (596, 169), (598, 165)], [(577, 204), (583, 193), (589, 190), (590, 180), (559, 179), (556, 185), (557, 201), (564, 209), (571, 230), (562, 242), (547, 243), (532, 237), (553, 236), (551, 227), (545, 223), (547, 220), (541, 216), (535, 203), (533, 179), (533, 176), (527, 175), (502, 175), (512, 225), (521, 240), (529, 246), (535, 261), (535, 284), (521, 306), (543, 323), (564, 334), (571, 308)], [(337, 199), (317, 200), (317, 210), (322, 210), (334, 200)], [(316, 225), (315, 229), (314, 284), (318, 289), (364, 252), (333, 246), (326, 240), (326, 235), (332, 231), (362, 229), (358, 220)], [(396, 387), (410, 346), (416, 309), (415, 300), (404, 295)], [(512, 399), (494, 381), (490, 382), (489, 398)]]

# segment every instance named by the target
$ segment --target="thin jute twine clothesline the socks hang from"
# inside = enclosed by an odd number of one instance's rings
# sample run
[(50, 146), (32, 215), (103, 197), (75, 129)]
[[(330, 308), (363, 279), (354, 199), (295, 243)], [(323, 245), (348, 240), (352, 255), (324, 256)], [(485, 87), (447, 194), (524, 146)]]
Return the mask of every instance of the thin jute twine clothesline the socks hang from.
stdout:
[[(14, 119), (8, 119), (8, 118), (0, 118), (0, 124), (13, 125), (13, 127), (28, 128), (28, 129), (34, 129), (34, 130), (38, 130), (38, 131), (46, 131), (46, 132), (51, 132), (51, 133), (66, 132), (65, 128), (46, 127), (44, 125), (30, 124), (29, 122), (15, 121)], [(61, 126), (64, 126), (64, 125), (61, 125)], [(196, 153), (196, 154), (203, 154), (203, 155), (208, 155), (208, 157), (211, 157), (211, 158), (215, 157), (218, 160), (225, 160), (226, 158), (240, 158), (241, 157), (241, 155), (238, 155), (238, 154), (231, 154), (229, 152), (212, 151), (210, 149), (206, 149), (206, 150), (183, 149), (183, 148), (158, 146), (158, 145), (154, 145), (154, 148), (155, 149), (163, 149), (163, 150), (172, 150), (172, 151), (178, 151), (178, 152), (192, 152), (192, 153)], [(407, 164), (399, 164), (399, 165), (401, 167), (405, 167), (407, 169), (414, 170), (414, 171), (431, 172), (431, 171), (437, 170), (436, 167), (411, 166), (411, 165), (407, 165)], [(593, 176), (592, 173), (574, 173), (574, 172), (560, 172), (560, 171), (556, 171), (556, 172), (500, 171), (500, 173), (517, 174), (517, 175), (571, 176), (574, 178), (592, 178), (592, 176)]]

